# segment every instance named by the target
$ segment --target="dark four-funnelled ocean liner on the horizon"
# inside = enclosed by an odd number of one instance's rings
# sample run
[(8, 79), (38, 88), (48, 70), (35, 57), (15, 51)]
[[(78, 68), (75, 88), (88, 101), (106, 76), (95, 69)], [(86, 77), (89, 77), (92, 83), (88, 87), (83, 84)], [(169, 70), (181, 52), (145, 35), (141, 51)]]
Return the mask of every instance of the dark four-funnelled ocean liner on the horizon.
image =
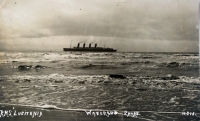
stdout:
[(114, 50), (113, 48), (97, 47), (97, 44), (95, 44), (94, 47), (91, 47), (91, 43), (89, 44), (89, 47), (85, 47), (85, 43), (83, 43), (83, 47), (80, 47), (80, 43), (78, 43), (77, 47), (63, 48), (63, 51), (116, 52), (117, 50)]

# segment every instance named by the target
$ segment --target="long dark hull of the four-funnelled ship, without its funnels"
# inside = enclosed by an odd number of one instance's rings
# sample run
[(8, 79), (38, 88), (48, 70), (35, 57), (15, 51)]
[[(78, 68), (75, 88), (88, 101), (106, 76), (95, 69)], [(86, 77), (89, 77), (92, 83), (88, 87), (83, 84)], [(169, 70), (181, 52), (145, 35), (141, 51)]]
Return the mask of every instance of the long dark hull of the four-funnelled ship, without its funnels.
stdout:
[(63, 51), (77, 51), (77, 52), (116, 52), (114, 49), (106, 48), (63, 48)]

